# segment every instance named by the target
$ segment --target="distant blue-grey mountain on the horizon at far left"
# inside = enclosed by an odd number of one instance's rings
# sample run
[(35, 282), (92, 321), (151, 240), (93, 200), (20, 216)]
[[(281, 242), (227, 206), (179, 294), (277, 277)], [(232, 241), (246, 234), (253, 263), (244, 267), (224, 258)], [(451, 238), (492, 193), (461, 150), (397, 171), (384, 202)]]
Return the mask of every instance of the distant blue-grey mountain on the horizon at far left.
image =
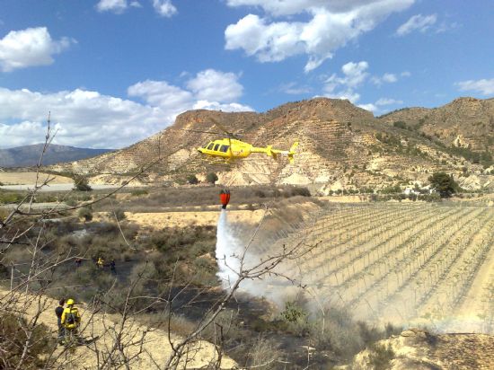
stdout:
[[(0, 149), (0, 167), (29, 167), (37, 165), (43, 144), (17, 146)], [(86, 149), (67, 145), (49, 145), (43, 156), (45, 165), (77, 161), (109, 152), (110, 149)]]

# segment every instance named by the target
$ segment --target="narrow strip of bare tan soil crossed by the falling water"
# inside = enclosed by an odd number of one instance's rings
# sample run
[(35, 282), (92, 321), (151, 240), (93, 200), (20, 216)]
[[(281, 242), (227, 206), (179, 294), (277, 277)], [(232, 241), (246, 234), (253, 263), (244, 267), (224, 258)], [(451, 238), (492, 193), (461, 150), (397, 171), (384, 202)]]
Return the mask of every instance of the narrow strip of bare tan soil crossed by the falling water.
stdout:
[[(220, 214), (216, 211), (204, 212), (163, 212), (163, 213), (131, 213), (126, 212), (128, 221), (149, 229), (163, 229), (163, 227), (216, 226)], [(228, 219), (232, 223), (243, 225), (257, 225), (264, 214), (263, 210), (228, 211)]]

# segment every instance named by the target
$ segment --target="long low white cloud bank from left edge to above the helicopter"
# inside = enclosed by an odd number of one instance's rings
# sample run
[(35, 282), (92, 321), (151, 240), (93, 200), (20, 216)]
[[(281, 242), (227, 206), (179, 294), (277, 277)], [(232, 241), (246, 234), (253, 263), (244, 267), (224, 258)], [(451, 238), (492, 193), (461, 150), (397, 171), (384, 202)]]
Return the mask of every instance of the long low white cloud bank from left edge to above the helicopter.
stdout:
[[(166, 128), (185, 110), (252, 110), (235, 101), (243, 90), (237, 78), (208, 69), (190, 79), (190, 90), (151, 80), (129, 86), (128, 96), (144, 103), (81, 89), (36, 93), (0, 88), (0, 147), (42, 141), (49, 111), (58, 130), (54, 143), (118, 148)], [(210, 90), (214, 81), (221, 84), (216, 96)]]

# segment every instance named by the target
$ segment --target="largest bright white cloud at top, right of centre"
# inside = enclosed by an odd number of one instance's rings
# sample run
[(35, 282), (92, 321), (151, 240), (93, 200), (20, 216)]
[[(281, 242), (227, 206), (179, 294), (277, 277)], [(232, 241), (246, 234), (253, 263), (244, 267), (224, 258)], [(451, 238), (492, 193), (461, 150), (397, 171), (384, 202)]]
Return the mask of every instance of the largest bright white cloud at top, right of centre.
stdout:
[[(278, 62), (300, 54), (308, 61), (305, 72), (317, 68), (349, 41), (371, 31), (391, 13), (400, 12), (414, 0), (227, 0), (230, 6), (251, 5), (268, 14), (248, 14), (225, 30), (225, 48), (243, 49), (260, 62)], [(308, 22), (293, 21), (308, 14)], [(273, 22), (272, 18), (287, 21)]]

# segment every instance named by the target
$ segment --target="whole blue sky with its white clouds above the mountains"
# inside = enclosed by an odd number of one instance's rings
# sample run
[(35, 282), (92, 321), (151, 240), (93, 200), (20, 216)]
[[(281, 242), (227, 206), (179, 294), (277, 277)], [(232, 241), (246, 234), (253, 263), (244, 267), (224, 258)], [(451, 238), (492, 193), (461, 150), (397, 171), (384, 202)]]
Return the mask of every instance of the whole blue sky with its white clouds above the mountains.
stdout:
[(314, 96), (375, 115), (494, 96), (494, 3), (3, 0), (0, 147), (120, 148), (185, 110)]

